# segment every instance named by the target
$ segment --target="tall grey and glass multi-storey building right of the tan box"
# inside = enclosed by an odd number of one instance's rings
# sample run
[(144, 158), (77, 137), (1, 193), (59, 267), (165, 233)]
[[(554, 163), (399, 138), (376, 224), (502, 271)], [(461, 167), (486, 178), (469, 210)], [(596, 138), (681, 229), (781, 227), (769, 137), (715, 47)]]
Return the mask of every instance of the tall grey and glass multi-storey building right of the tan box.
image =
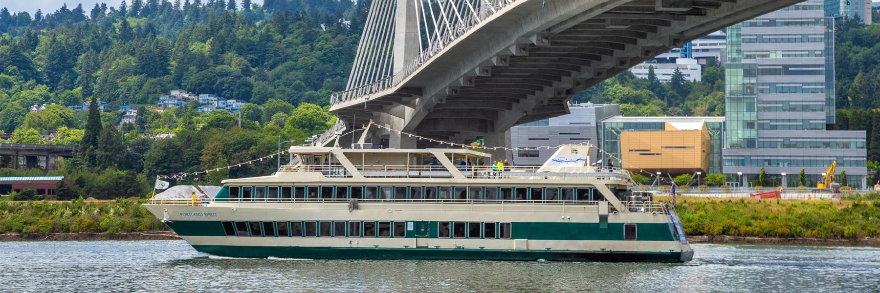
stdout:
[(744, 186), (763, 168), (789, 187), (803, 169), (815, 187), (836, 161), (849, 186), (865, 187), (865, 132), (825, 130), (835, 95), (834, 19), (824, 4), (808, 0), (726, 31), (723, 172)]

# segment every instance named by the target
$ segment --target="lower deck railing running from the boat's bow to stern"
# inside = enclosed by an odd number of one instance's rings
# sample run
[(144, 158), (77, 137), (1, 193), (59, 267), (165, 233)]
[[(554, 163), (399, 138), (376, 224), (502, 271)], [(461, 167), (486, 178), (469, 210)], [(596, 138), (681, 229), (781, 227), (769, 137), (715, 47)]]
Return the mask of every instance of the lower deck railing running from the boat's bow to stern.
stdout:
[[(528, 212), (570, 212), (598, 213), (599, 201), (530, 201), (530, 200), (403, 200), (403, 199), (358, 199), (356, 208), (350, 200), (336, 199), (150, 199), (150, 204), (173, 206), (212, 206), (214, 203), (232, 203), (237, 207), (249, 204), (269, 204), (260, 208), (278, 209), (362, 209), (386, 210), (442, 210), (442, 211), (528, 211)], [(663, 202), (623, 201), (624, 210), (630, 213), (666, 214)], [(275, 206), (277, 205), (277, 206)], [(225, 205), (224, 205), (225, 206)], [(609, 211), (615, 209), (609, 207)]]

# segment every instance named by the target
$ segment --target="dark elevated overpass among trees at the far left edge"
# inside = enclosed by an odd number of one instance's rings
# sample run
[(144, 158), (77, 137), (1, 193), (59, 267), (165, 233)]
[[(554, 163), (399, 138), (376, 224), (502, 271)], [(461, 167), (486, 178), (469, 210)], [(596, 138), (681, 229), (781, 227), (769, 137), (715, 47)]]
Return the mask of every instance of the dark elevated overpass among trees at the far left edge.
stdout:
[(44, 157), (46, 171), (55, 170), (58, 169), (58, 157), (73, 157), (74, 150), (77, 148), (67, 145), (0, 143), (0, 156), (12, 157), (13, 169), (20, 167), (19, 157), (24, 157), (25, 168), (36, 168), (40, 165), (40, 157)]

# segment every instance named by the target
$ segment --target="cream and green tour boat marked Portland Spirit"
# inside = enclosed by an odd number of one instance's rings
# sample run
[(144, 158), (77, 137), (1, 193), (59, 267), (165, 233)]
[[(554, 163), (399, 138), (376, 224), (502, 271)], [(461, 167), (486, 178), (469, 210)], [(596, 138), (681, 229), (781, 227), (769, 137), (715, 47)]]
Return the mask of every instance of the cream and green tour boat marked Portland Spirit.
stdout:
[(626, 170), (591, 166), (590, 148), (500, 166), (466, 149), (295, 146), (271, 176), (144, 206), (195, 250), (234, 258), (691, 260), (674, 210), (634, 194)]

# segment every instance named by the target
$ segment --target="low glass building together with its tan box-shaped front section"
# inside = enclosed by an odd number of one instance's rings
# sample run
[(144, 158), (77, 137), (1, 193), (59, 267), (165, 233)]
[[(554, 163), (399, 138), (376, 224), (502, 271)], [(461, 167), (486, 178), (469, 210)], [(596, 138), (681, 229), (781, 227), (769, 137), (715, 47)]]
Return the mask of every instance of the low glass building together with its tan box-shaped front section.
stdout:
[[(622, 168), (671, 175), (721, 173), (724, 117), (624, 117), (599, 121), (599, 146)], [(622, 158), (622, 161), (621, 161)]]

